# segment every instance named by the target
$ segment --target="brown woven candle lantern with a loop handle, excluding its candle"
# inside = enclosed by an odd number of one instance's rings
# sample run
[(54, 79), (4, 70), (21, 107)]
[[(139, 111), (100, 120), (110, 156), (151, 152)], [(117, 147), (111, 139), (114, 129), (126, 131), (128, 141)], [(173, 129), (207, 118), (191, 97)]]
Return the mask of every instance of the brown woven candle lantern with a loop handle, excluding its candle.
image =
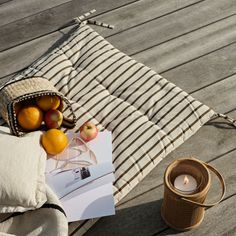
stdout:
[[(204, 201), (211, 185), (210, 171), (219, 178), (222, 194), (217, 202), (205, 204)], [(191, 175), (197, 181), (197, 188), (189, 194), (174, 187), (176, 177), (182, 174)], [(167, 167), (164, 175), (164, 200), (161, 216), (173, 229), (190, 230), (201, 224), (205, 208), (218, 204), (224, 195), (224, 179), (214, 167), (195, 158), (178, 159)]]

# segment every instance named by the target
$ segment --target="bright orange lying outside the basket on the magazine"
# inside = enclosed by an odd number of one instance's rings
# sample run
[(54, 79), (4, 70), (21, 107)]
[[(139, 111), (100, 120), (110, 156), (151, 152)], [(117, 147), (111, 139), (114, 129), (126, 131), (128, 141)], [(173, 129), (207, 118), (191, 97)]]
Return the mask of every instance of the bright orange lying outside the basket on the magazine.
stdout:
[(41, 143), (50, 155), (62, 152), (68, 145), (68, 138), (61, 130), (49, 129), (42, 135)]

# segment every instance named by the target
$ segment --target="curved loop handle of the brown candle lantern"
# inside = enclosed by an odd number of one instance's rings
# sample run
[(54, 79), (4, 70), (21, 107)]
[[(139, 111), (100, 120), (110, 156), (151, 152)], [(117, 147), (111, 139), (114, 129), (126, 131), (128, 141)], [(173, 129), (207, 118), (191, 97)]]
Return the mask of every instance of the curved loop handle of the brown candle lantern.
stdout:
[(222, 199), (224, 198), (225, 196), (225, 191), (226, 191), (226, 186), (225, 186), (225, 181), (223, 179), (223, 176), (219, 173), (219, 171), (217, 171), (213, 166), (203, 162), (203, 164), (209, 169), (211, 170), (217, 177), (218, 179), (220, 180), (220, 183), (221, 183), (221, 187), (222, 187), (222, 192), (221, 192), (221, 196), (220, 196), (220, 199), (214, 203), (211, 203), (211, 204), (204, 204), (204, 203), (199, 203), (199, 202), (195, 202), (195, 201), (192, 201), (190, 199), (187, 199), (187, 198), (181, 198), (181, 200), (183, 201), (186, 201), (186, 202), (189, 202), (191, 204), (194, 204), (196, 206), (200, 206), (200, 207), (213, 207), (215, 206), (216, 204), (220, 203), (222, 201)]

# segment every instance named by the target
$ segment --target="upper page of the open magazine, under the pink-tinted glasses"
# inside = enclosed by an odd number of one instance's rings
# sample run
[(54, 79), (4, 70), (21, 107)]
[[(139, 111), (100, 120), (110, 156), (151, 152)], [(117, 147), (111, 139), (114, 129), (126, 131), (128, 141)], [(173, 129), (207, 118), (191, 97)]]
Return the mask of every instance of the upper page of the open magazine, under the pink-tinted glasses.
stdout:
[(46, 168), (46, 181), (60, 199), (114, 171), (109, 142), (107, 147), (99, 145), (107, 135), (100, 134), (88, 143), (75, 133), (69, 133), (68, 138), (68, 147), (48, 159)]

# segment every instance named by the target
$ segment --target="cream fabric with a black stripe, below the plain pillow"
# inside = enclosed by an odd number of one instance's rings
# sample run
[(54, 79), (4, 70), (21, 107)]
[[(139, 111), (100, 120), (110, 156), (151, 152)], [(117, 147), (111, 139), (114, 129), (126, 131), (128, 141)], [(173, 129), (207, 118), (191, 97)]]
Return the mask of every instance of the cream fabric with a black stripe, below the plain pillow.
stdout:
[(4, 235), (24, 236), (67, 236), (68, 222), (62, 206), (47, 186), (47, 201), (37, 210), (13, 213), (0, 222), (0, 232)]

